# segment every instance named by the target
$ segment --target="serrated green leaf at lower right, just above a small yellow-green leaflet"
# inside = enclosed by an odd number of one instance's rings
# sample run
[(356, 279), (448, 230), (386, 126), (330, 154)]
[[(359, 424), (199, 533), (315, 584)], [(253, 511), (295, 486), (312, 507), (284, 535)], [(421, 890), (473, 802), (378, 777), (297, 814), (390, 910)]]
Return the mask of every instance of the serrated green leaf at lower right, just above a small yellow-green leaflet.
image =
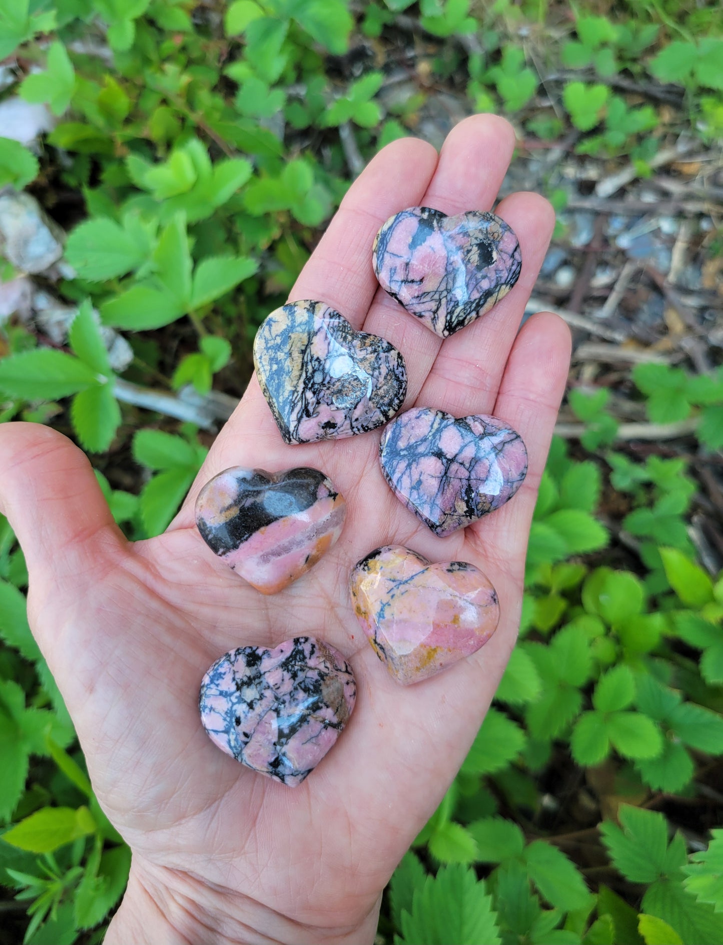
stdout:
[(675, 876), (685, 863), (685, 846), (674, 840), (668, 846), (665, 817), (657, 811), (621, 804), (622, 824), (605, 821), (599, 827), (603, 844), (615, 868), (630, 883), (654, 883), (662, 876)]

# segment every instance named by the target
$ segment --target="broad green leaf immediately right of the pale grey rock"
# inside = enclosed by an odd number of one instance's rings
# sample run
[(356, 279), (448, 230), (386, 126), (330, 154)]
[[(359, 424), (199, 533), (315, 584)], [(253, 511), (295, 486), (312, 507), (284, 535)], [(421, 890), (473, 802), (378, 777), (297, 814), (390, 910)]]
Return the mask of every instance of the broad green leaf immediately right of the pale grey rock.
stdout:
[(103, 282), (123, 276), (146, 262), (146, 247), (131, 238), (114, 220), (86, 220), (71, 232), (65, 258), (78, 278)]

